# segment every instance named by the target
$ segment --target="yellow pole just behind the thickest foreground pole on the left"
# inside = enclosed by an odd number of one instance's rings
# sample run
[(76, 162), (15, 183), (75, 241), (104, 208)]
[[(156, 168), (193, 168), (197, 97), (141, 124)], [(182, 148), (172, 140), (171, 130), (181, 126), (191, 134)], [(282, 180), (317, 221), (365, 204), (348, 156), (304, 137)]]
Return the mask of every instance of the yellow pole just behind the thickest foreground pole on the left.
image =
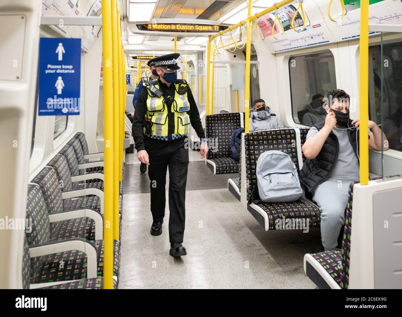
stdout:
[(116, 0), (111, 0), (113, 53), (113, 239), (119, 240), (119, 45)]

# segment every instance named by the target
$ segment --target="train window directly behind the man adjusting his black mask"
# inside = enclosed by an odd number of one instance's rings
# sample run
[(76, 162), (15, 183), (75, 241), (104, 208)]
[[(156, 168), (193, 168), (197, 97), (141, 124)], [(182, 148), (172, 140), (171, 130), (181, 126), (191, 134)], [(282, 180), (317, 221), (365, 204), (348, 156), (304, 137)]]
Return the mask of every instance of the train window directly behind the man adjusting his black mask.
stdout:
[[(289, 59), (293, 121), (312, 126), (325, 117), (317, 101), (336, 89), (335, 62), (330, 51)], [(314, 100), (313, 100), (314, 99)]]

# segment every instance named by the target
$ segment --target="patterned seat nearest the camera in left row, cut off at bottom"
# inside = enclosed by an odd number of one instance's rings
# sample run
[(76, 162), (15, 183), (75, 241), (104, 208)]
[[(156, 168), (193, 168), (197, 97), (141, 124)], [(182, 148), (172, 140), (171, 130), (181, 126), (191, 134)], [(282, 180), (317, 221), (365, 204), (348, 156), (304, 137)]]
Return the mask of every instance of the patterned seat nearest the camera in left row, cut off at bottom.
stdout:
[[(31, 255), (29, 254), (28, 240), (24, 235), (22, 288), (29, 289), (31, 286), (31, 276), (37, 275), (38, 272), (31, 269)], [(117, 281), (115, 279), (113, 279), (113, 288), (117, 288)], [(40, 289), (103, 289), (103, 278), (87, 278), (83, 280), (41, 287)]]

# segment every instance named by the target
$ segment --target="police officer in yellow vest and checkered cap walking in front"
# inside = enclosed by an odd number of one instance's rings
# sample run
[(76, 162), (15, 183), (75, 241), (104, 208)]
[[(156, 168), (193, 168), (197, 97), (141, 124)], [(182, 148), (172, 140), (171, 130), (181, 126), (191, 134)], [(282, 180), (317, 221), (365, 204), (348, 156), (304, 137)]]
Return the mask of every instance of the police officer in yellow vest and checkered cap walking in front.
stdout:
[[(182, 243), (189, 165), (189, 152), (185, 144), (190, 124), (201, 140), (201, 158), (208, 152), (207, 139), (191, 89), (185, 80), (177, 79), (179, 56), (174, 53), (149, 60), (148, 66), (156, 68), (159, 78), (146, 83), (146, 89), (142, 89), (133, 119), (137, 158), (148, 165), (153, 218), (151, 235), (162, 233), (166, 170), (169, 167), (169, 254), (173, 257), (187, 254)], [(146, 143), (144, 126), (146, 134), (150, 136)]]

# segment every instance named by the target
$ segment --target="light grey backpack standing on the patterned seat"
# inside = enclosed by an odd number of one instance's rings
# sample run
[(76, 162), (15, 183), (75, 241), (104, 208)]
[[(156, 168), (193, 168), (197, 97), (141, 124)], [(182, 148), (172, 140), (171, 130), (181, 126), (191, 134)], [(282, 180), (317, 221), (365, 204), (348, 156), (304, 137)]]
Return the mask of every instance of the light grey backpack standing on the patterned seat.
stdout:
[(284, 152), (263, 152), (257, 160), (256, 176), (263, 202), (294, 202), (303, 195), (296, 166)]

